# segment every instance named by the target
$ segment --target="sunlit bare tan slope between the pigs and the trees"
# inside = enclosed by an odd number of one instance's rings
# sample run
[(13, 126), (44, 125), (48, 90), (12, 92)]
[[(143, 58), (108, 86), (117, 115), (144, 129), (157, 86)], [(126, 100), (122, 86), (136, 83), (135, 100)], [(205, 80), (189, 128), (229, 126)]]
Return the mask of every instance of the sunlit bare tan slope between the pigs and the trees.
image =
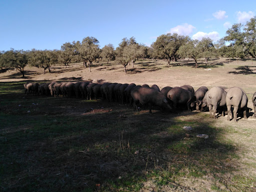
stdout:
[[(127, 65), (127, 72), (123, 66), (116, 64), (94, 63), (91, 72), (82, 63), (71, 63), (67, 68), (63, 64), (53, 65), (51, 72), (43, 74), (42, 68), (25, 67), (25, 78), (21, 78), (17, 70), (0, 73), (0, 82), (4, 81), (66, 81), (66, 80), (94, 80), (97, 82), (118, 82), (135, 84), (157, 84), (160, 89), (164, 86), (182, 86), (189, 84), (196, 90), (200, 86), (239, 86), (245, 90), (248, 98), (256, 91), (256, 61), (236, 59), (212, 59), (208, 63), (201, 62), (198, 68), (193, 61), (187, 59), (174, 62), (167, 67), (163, 60), (138, 60)], [(252, 107), (248, 102), (248, 106)]]

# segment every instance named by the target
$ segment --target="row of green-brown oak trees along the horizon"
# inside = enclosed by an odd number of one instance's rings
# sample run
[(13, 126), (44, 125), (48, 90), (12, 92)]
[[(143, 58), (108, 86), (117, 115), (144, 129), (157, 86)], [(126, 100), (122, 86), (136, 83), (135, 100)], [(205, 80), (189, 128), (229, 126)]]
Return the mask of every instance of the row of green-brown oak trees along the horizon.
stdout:
[(170, 61), (176, 61), (180, 57), (194, 59), (195, 66), (199, 58), (207, 62), (209, 58), (225, 57), (252, 57), (256, 59), (256, 16), (250, 18), (245, 25), (235, 23), (226, 30), (226, 36), (213, 43), (210, 38), (192, 40), (188, 36), (177, 33), (159, 35), (150, 47), (138, 43), (135, 37), (123, 38), (114, 49), (112, 44), (99, 48), (99, 41), (93, 36), (87, 36), (82, 41), (65, 42), (60, 50), (36, 50), (28, 51), (10, 49), (0, 51), (0, 68), (16, 68), (24, 76), (24, 67), (41, 67), (45, 70), (57, 62), (66, 67), (70, 62), (83, 61), (84, 67), (89, 67), (93, 61), (101, 58), (103, 62), (115, 60), (122, 64), (126, 72), (126, 65), (134, 63), (138, 58), (166, 59), (168, 66)]

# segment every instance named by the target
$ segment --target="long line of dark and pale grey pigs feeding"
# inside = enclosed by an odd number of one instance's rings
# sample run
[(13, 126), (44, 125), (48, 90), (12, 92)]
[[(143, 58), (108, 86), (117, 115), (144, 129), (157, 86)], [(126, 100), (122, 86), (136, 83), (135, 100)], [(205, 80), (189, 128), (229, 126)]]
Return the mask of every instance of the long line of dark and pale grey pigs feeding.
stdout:
[[(216, 118), (215, 113), (227, 114), (227, 119), (237, 121), (237, 113), (246, 112), (248, 97), (240, 87), (215, 86), (208, 89), (205, 86), (194, 91), (190, 85), (180, 87), (165, 86), (161, 90), (156, 84), (151, 87), (147, 84), (136, 85), (134, 83), (92, 83), (92, 82), (47, 82), (47, 83), (25, 83), (25, 94), (52, 95), (65, 97), (82, 97), (86, 99), (97, 99), (101, 97), (108, 101), (119, 101), (133, 103), (134, 110), (139, 107), (148, 107), (151, 112), (152, 105), (161, 111), (174, 111), (176, 108), (188, 110), (209, 110), (210, 117)], [(256, 117), (256, 92), (252, 96), (254, 107), (253, 117)], [(233, 115), (231, 112), (233, 107)]]

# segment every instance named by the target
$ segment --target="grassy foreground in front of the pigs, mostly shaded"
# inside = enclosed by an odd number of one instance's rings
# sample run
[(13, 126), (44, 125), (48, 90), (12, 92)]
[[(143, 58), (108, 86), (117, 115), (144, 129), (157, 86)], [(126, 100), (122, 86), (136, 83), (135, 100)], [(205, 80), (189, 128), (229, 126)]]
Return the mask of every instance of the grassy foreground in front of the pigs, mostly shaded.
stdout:
[(23, 83), (0, 82), (0, 191), (256, 191), (252, 118), (149, 115), (118, 102), (25, 95)]

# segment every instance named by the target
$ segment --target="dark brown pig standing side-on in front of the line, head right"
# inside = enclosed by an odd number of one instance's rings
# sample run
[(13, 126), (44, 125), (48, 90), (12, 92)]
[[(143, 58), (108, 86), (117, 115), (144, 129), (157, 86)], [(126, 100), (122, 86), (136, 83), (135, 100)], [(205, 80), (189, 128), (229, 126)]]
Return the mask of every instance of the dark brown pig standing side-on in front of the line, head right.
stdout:
[(152, 105), (159, 106), (161, 111), (167, 109), (171, 111), (166, 97), (159, 91), (152, 88), (137, 87), (131, 91), (133, 99), (133, 108), (138, 111), (138, 103), (145, 105), (148, 104), (149, 114), (152, 114)]

